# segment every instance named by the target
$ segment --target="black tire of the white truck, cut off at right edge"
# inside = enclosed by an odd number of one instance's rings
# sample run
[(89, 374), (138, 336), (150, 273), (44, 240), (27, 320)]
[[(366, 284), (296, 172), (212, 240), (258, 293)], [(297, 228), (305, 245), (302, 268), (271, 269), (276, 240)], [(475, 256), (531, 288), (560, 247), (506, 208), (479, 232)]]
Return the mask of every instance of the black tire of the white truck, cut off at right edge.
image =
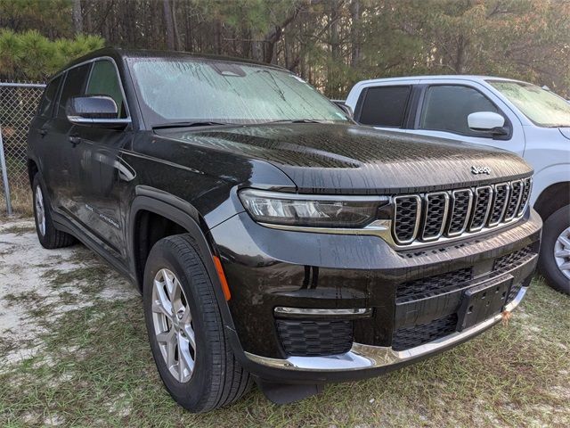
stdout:
[(554, 245), (558, 236), (566, 227), (570, 226), (570, 205), (566, 205), (555, 212), (544, 222), (542, 228), (542, 243), (539, 259), (539, 269), (549, 285), (559, 292), (570, 293), (570, 280), (560, 272), (554, 258)]

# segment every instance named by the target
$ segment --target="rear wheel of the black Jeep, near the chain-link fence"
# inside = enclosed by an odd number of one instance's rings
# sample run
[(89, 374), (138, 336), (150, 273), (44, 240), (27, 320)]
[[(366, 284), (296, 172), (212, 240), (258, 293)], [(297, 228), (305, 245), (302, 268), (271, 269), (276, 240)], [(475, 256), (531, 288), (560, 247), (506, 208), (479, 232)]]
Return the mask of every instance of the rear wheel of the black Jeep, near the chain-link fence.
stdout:
[(36, 232), (39, 243), (44, 248), (54, 249), (69, 247), (75, 243), (75, 238), (65, 232), (61, 232), (53, 225), (50, 201), (42, 185), (39, 172), (34, 176), (32, 183), (34, 220), (36, 221)]

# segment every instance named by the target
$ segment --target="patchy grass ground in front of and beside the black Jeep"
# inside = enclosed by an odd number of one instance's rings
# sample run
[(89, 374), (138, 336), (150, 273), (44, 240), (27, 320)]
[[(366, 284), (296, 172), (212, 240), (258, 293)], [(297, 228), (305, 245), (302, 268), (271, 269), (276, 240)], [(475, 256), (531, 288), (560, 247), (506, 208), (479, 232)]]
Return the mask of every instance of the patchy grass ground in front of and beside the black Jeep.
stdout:
[[(78, 256), (80, 259), (84, 256)], [(191, 415), (162, 387), (151, 358), (138, 297), (103, 298), (118, 276), (102, 263), (47, 271), (66, 305), (53, 317), (29, 303), (45, 327), (35, 356), (4, 365), (13, 342), (0, 340), (0, 426), (569, 426), (570, 298), (533, 282), (509, 325), (444, 354), (378, 378), (328, 386), (322, 395), (276, 406), (251, 391), (232, 407)], [(85, 306), (85, 303), (88, 303)], [(52, 316), (49, 313), (52, 313)], [(4, 353), (4, 354), (3, 354)]]

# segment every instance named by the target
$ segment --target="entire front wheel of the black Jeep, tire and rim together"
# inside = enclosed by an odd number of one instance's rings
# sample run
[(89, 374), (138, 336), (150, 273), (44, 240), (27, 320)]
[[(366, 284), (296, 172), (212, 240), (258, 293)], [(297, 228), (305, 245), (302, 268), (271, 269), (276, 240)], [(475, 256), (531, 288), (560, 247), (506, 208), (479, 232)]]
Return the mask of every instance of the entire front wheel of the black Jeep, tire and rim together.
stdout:
[[(233, 356), (214, 287), (190, 235), (168, 236), (152, 247), (144, 269), (143, 304), (154, 361), (178, 404), (202, 413), (228, 405), (249, 390), (251, 377)], [(169, 348), (172, 331), (179, 332), (178, 342)], [(190, 352), (181, 354), (179, 349)]]

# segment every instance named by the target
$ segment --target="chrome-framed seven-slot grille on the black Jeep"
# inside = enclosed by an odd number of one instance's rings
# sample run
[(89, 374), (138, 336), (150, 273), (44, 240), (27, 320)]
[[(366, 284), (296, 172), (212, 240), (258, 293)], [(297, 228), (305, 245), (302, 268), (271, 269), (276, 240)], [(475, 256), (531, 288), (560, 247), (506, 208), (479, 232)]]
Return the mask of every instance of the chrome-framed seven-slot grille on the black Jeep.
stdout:
[(525, 213), (530, 177), (495, 185), (394, 198), (395, 243), (428, 243), (500, 226)]

